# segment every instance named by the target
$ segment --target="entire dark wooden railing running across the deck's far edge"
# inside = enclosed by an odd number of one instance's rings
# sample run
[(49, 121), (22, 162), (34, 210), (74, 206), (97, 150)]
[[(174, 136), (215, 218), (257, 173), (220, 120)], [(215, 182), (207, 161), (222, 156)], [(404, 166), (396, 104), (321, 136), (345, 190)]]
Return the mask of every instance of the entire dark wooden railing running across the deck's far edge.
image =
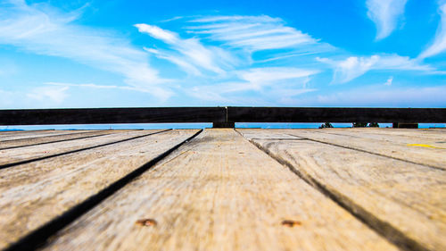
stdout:
[(0, 110), (0, 125), (212, 122), (446, 122), (446, 108), (149, 107)]

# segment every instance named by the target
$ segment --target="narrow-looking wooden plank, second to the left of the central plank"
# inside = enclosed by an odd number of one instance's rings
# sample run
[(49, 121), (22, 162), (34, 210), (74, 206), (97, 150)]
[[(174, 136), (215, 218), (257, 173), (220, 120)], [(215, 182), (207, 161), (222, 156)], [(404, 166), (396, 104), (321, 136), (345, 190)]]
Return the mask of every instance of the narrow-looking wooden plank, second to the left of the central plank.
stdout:
[(70, 140), (70, 142), (57, 142), (42, 146), (23, 146), (21, 148), (0, 150), (0, 169), (18, 163), (26, 163), (49, 156), (57, 156), (85, 148), (111, 144), (120, 140), (142, 137), (160, 131), (162, 130), (127, 131), (95, 138), (74, 139)]

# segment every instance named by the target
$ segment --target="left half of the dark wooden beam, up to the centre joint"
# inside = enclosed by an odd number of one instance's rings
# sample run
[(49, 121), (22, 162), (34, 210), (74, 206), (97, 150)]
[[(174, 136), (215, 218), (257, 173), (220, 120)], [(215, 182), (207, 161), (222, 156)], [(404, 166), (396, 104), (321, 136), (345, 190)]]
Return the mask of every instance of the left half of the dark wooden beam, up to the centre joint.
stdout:
[(225, 107), (0, 110), (0, 125), (224, 122)]

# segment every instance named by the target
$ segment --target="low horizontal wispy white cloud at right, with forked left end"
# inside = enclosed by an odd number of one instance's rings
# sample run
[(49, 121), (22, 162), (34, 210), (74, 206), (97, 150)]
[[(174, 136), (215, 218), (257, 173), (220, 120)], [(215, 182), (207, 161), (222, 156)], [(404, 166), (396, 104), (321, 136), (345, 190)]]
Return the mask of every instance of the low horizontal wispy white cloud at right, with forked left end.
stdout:
[(372, 55), (370, 57), (351, 56), (342, 61), (328, 58), (317, 58), (321, 63), (327, 63), (335, 69), (334, 83), (346, 83), (365, 74), (368, 71), (429, 71), (435, 69), (421, 64), (408, 56), (397, 54)]

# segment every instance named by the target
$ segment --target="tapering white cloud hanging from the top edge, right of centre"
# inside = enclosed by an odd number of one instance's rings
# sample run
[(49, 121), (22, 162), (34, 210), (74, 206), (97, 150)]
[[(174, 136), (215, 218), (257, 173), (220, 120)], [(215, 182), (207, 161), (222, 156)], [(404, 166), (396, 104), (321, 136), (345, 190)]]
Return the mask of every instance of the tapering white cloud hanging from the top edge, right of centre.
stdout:
[(376, 39), (388, 37), (404, 14), (407, 0), (367, 0), (368, 17), (375, 22)]

